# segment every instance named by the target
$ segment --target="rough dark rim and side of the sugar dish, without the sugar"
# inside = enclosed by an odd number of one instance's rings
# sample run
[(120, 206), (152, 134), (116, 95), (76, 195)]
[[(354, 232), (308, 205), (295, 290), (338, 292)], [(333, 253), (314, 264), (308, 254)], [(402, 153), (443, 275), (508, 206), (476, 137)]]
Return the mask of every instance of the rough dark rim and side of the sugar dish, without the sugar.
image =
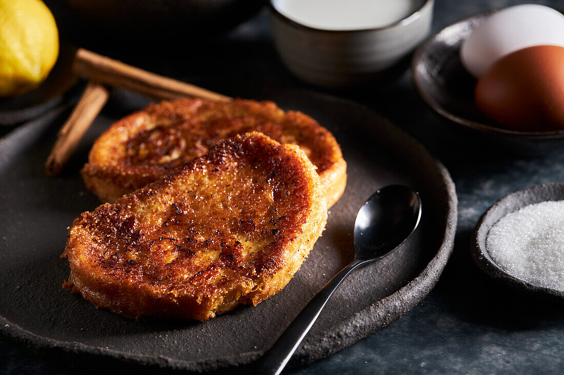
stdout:
[(515, 193), (505, 195), (505, 197), (493, 203), (478, 221), (474, 235), (472, 236), (470, 249), (474, 261), (485, 273), (509, 285), (525, 289), (529, 292), (541, 292), (550, 294), (551, 296), (564, 297), (564, 292), (562, 291), (538, 287), (508, 274), (492, 260), (486, 248), (486, 238), (491, 227), (508, 213), (517, 211), (519, 208), (523, 208), (529, 204), (562, 199), (564, 199), (564, 183), (555, 182), (553, 184), (535, 185), (525, 190), (515, 191)]

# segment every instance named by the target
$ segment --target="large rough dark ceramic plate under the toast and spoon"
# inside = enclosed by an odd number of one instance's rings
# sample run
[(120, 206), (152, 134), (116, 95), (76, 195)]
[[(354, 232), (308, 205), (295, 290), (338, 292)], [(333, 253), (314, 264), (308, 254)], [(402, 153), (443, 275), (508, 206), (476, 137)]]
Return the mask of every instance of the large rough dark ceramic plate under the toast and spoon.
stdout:
[(429, 293), (451, 254), (456, 230), (455, 186), (442, 164), (412, 137), (353, 102), (249, 83), (218, 91), (272, 99), (282, 108), (309, 113), (334, 133), (348, 163), (348, 185), (331, 208), (327, 230), (287, 287), (257, 307), (240, 306), (204, 323), (136, 322), (61, 290), (69, 274), (60, 258), (66, 228), (99, 204), (78, 169), (92, 140), (116, 119), (112, 108), (121, 115), (144, 104), (114, 97), (58, 178), (47, 177), (43, 163), (67, 112), (44, 115), (0, 141), (1, 332), (50, 358), (64, 356), (67, 363), (89, 367), (119, 360), (188, 370), (248, 363), (351, 260), (356, 212), (374, 190), (390, 184), (420, 192), (420, 226), (398, 251), (345, 280), (290, 365), (351, 345), (399, 319)]

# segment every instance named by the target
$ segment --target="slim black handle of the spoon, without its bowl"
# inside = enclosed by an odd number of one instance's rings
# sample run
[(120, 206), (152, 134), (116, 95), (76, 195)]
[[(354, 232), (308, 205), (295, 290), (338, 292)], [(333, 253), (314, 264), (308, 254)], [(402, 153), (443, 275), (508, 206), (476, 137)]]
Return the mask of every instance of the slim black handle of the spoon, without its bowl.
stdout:
[(360, 264), (362, 264), (362, 262), (356, 260), (352, 261), (351, 264), (343, 268), (340, 273), (329, 280), (329, 282), (311, 298), (311, 301), (303, 307), (302, 311), (296, 316), (296, 319), (290, 323), (286, 331), (282, 333), (270, 350), (259, 359), (259, 374), (279, 375), (282, 372), (292, 357), (292, 354), (294, 354), (294, 351), (298, 349), (299, 343), (302, 342), (307, 332), (309, 332), (312, 325), (314, 325), (315, 320), (318, 318), (321, 310), (323, 310), (323, 307), (325, 307), (327, 301), (329, 301), (329, 298), (331, 298), (333, 292), (346, 276)]

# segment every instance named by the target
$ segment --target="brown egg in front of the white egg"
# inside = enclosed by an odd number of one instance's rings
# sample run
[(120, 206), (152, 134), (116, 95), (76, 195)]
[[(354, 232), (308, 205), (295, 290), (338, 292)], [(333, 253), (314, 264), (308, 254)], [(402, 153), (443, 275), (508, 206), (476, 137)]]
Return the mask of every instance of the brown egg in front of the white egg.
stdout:
[(479, 78), (474, 98), (499, 127), (564, 129), (564, 47), (534, 46), (510, 53)]

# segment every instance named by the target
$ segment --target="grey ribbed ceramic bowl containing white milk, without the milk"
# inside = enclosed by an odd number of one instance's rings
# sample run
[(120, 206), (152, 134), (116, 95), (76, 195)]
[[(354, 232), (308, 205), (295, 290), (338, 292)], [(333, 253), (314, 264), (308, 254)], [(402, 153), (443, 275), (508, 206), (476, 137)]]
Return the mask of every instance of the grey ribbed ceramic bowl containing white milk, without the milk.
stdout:
[[(281, 14), (270, 0), (274, 43), (298, 78), (325, 87), (347, 87), (386, 78), (428, 35), (434, 0), (381, 28), (321, 30)], [(304, 0), (306, 1), (306, 0)]]

